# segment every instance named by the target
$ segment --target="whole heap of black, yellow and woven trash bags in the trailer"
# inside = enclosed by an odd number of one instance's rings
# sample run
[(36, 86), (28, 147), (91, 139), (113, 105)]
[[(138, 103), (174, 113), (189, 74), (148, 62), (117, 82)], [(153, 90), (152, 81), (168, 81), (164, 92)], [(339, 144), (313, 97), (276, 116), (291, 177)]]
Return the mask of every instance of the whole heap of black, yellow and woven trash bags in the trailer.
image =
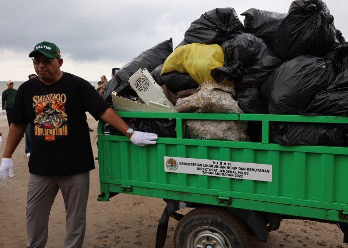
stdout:
[[(128, 79), (147, 68), (178, 112), (348, 116), (348, 43), (324, 1), (241, 15), (244, 23), (232, 7), (205, 12), (174, 50), (172, 39), (164, 41), (119, 69), (104, 99), (111, 102), (112, 91), (135, 96)], [(192, 138), (261, 141), (258, 122), (209, 123), (224, 126), (225, 136), (203, 130), (204, 122), (186, 124)], [(270, 129), (270, 142), (281, 145), (348, 145), (345, 124), (274, 122)]]

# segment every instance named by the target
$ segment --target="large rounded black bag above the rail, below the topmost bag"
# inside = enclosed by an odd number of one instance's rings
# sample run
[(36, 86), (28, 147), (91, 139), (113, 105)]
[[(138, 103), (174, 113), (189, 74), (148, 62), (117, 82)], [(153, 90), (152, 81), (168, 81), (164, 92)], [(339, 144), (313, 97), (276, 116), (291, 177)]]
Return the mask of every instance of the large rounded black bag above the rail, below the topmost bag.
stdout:
[(261, 92), (268, 104), (269, 114), (298, 115), (334, 78), (331, 62), (299, 56), (276, 68), (262, 84)]

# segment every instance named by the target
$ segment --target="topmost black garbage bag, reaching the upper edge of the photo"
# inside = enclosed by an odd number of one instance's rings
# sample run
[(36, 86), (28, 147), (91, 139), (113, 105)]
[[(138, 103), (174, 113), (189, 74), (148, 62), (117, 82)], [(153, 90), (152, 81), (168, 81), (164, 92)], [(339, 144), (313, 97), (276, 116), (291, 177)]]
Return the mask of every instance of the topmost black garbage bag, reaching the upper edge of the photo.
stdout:
[(334, 16), (322, 0), (295, 0), (270, 46), (282, 60), (300, 55), (325, 56), (338, 45)]

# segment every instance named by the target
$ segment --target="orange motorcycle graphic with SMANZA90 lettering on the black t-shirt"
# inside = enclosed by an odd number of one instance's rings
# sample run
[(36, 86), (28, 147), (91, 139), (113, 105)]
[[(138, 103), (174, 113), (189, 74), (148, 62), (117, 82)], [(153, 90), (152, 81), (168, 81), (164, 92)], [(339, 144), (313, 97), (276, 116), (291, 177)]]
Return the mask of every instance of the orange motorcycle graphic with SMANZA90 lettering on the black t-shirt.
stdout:
[(35, 112), (34, 134), (47, 141), (68, 135), (68, 116), (65, 111), (65, 94), (33, 97)]

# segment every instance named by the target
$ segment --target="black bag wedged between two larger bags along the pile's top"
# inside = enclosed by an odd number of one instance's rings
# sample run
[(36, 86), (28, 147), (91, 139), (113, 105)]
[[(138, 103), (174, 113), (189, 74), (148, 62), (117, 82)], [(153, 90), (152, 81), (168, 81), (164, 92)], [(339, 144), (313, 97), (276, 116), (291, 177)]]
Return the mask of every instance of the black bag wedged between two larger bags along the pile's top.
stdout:
[(286, 14), (250, 8), (243, 12), (245, 32), (260, 37), (269, 46)]

